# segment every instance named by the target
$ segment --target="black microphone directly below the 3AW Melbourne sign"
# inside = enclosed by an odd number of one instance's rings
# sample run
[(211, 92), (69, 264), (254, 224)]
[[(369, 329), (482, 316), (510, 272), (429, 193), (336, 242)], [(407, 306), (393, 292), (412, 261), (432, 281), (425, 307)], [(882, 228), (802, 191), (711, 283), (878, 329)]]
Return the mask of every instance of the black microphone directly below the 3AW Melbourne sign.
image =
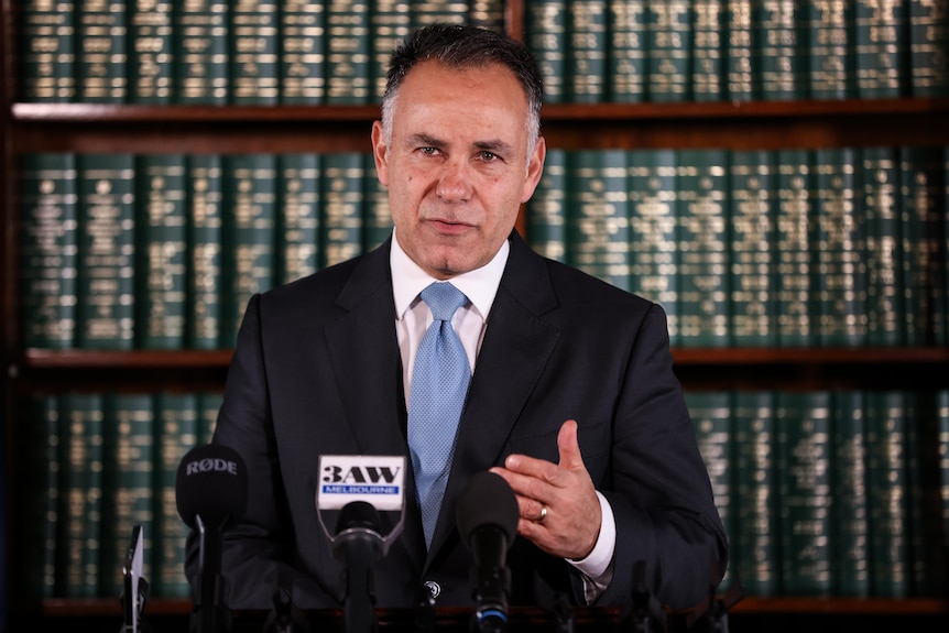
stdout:
[(372, 568), (382, 557), (379, 511), (366, 501), (350, 501), (339, 511), (332, 554), (345, 564), (346, 596), (342, 621), (346, 633), (375, 633), (375, 581)]

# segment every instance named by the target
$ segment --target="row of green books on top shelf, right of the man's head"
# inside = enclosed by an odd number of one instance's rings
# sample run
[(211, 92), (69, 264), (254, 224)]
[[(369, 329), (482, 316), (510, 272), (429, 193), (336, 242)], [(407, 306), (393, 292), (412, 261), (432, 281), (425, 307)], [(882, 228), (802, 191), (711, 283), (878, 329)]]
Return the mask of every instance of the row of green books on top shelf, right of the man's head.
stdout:
[(949, 95), (928, 0), (538, 0), (526, 39), (553, 102)]

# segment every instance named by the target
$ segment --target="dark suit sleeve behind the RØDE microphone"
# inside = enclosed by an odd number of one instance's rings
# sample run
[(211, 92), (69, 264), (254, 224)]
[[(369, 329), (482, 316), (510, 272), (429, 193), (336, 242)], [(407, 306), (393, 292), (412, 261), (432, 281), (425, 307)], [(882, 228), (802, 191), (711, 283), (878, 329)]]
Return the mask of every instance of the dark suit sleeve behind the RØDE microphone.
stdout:
[[(293, 596), (305, 583), (310, 601), (316, 596), (312, 605), (319, 605), (320, 590), (310, 587), (313, 581), (304, 579), (292, 566), (294, 535), (288, 527), (291, 520), (276, 455), (261, 329), (261, 297), (254, 295), (238, 334), (212, 439), (214, 444), (237, 450), (248, 472), (244, 517), (228, 526), (222, 538), (223, 599), (231, 609), (270, 609), (277, 586)], [(196, 589), (200, 571), (198, 554), (197, 535), (193, 532), (187, 539), (185, 572)], [(327, 607), (337, 604), (323, 597)]]

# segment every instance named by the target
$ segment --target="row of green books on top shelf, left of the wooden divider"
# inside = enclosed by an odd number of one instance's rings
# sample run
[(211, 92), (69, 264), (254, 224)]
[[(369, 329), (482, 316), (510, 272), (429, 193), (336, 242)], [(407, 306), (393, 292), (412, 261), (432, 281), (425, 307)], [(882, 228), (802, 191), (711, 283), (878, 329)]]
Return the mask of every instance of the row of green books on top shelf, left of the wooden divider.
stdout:
[(503, 0), (22, 2), (21, 98), (150, 105), (367, 103), (432, 22), (503, 29)]

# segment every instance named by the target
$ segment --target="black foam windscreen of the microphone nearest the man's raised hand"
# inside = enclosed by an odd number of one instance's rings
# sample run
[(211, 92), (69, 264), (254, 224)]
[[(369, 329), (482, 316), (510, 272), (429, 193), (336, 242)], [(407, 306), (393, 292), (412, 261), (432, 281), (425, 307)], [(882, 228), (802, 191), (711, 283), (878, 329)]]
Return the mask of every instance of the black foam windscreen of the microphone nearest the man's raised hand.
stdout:
[(490, 471), (475, 473), (458, 498), (456, 521), (461, 541), (469, 544), (471, 534), (479, 527), (494, 525), (506, 537), (510, 546), (517, 535), (517, 499), (500, 474)]

